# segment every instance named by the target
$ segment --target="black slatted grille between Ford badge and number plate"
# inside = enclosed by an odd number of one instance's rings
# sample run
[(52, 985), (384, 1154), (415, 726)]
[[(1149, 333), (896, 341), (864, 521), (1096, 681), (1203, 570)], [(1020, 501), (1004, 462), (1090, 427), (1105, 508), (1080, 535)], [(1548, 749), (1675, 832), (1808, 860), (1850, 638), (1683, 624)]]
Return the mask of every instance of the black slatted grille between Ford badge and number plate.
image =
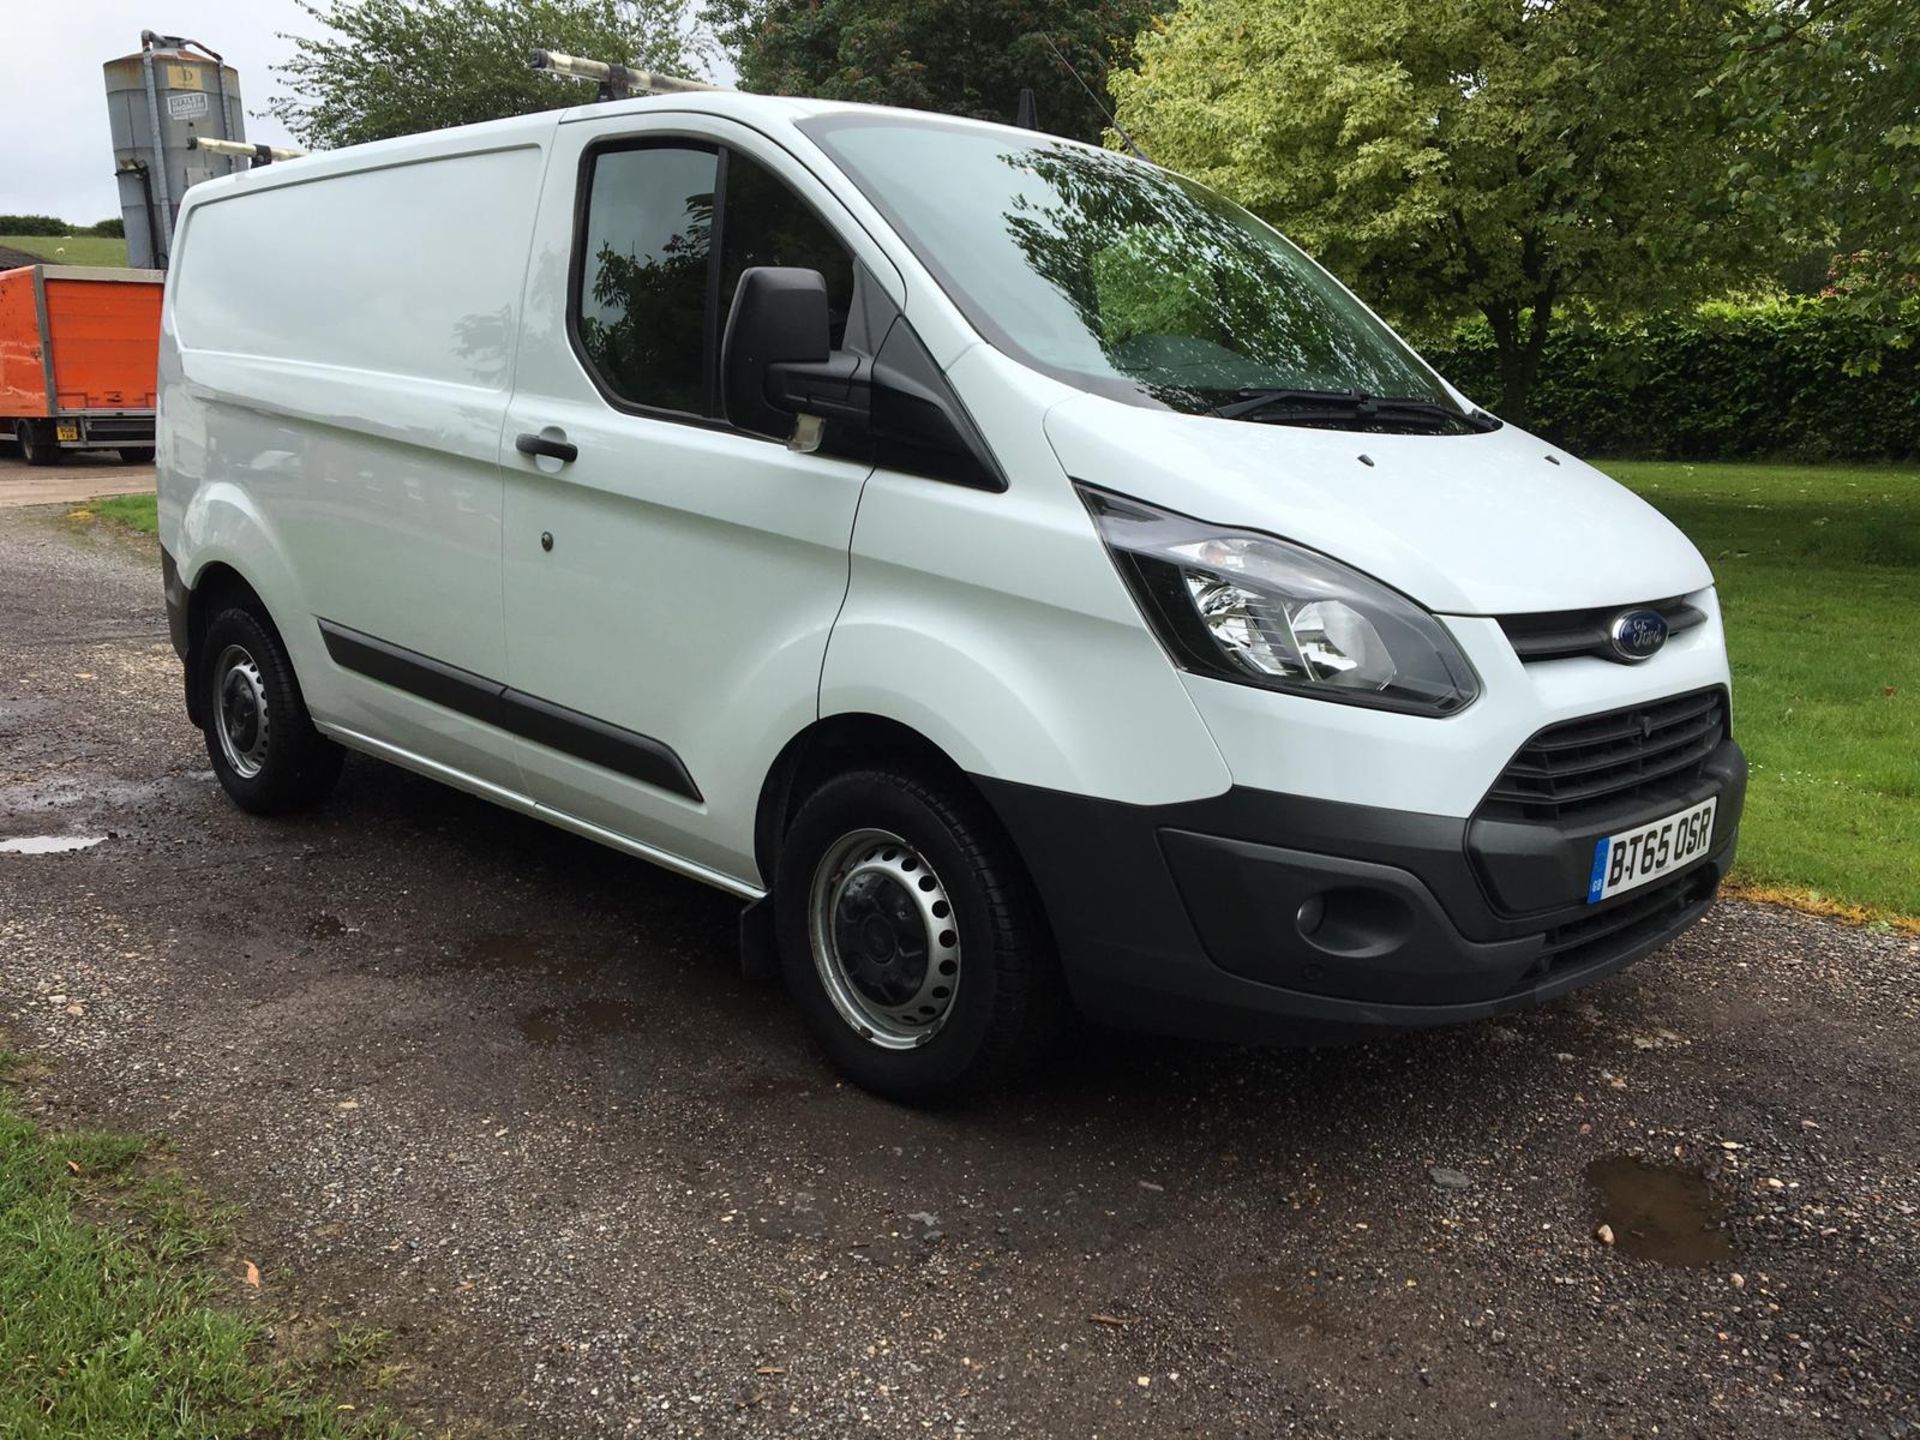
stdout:
[(1559, 820), (1695, 780), (1726, 739), (1726, 691), (1701, 689), (1549, 726), (1521, 747), (1480, 814)]

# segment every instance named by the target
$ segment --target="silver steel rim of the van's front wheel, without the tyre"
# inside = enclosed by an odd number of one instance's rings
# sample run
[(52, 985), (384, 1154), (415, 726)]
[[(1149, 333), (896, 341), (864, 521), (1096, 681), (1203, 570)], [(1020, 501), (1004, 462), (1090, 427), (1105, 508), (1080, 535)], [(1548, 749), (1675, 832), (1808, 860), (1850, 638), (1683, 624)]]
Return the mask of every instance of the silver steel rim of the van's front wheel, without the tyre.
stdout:
[(839, 1018), (883, 1050), (931, 1041), (960, 991), (960, 931), (941, 877), (887, 829), (841, 835), (806, 897), (814, 970)]

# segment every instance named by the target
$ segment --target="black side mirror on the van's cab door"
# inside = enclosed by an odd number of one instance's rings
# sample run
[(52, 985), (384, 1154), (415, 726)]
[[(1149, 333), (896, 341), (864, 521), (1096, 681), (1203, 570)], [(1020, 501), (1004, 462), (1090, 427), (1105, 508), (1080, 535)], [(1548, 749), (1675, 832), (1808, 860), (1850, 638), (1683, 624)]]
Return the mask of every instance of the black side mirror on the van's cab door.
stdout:
[[(720, 346), (720, 399), (730, 424), (801, 449), (820, 422), (864, 428), (868, 392), (858, 355), (835, 351), (820, 271), (755, 265), (739, 276)], [(856, 384), (858, 376), (858, 384)], [(808, 417), (799, 420), (797, 417)]]

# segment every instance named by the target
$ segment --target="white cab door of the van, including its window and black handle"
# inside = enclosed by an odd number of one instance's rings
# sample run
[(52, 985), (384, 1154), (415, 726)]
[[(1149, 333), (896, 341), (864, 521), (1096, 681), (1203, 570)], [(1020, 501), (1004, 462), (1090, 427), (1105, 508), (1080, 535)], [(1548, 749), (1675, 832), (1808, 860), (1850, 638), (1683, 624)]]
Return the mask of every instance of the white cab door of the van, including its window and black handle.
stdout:
[(820, 269), (843, 323), (854, 227), (778, 146), (689, 119), (555, 142), (501, 438), (507, 703), (540, 804), (743, 889), (870, 467), (728, 426), (720, 336), (749, 265)]

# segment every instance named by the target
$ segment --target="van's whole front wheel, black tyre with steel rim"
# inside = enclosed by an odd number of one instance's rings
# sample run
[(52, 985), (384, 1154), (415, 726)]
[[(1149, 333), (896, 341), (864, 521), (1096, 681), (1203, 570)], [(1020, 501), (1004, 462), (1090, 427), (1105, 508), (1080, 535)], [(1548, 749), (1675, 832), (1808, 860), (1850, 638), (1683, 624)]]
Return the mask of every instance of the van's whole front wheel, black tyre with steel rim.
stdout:
[(908, 1102), (973, 1094), (1044, 1054), (1066, 1006), (1027, 872), (958, 781), (860, 770), (801, 806), (774, 924), (833, 1064)]

